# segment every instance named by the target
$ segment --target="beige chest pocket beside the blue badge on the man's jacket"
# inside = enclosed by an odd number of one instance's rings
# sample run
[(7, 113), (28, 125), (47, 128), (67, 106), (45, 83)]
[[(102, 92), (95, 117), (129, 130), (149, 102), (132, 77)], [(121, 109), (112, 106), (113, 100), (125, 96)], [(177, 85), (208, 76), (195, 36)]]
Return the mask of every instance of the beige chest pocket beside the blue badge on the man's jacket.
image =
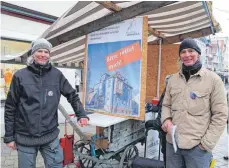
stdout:
[(196, 97), (190, 98), (189, 112), (192, 115), (203, 115), (209, 109), (209, 93), (194, 91)]

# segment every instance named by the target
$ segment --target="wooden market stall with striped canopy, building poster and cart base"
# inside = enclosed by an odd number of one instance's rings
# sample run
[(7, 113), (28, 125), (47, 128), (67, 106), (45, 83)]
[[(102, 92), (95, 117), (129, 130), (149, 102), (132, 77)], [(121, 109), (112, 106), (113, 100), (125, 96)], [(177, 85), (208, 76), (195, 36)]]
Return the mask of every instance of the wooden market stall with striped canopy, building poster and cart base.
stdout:
[[(130, 150), (137, 156), (133, 145), (145, 140), (145, 103), (159, 99), (164, 77), (178, 69), (174, 43), (219, 29), (210, 2), (79, 1), (41, 37), (53, 45), (54, 65), (84, 69), (81, 100), (93, 113), (89, 124), (97, 128), (90, 140), (98, 140), (99, 149), (111, 154), (107, 160), (116, 158), (121, 168), (131, 160), (125, 154)], [(29, 51), (21, 61), (28, 56)], [(151, 141), (155, 148), (157, 136)], [(80, 154), (84, 146), (77, 149), (84, 167), (101, 163), (95, 148), (87, 148), (88, 157)], [(85, 159), (90, 166), (82, 163)]]

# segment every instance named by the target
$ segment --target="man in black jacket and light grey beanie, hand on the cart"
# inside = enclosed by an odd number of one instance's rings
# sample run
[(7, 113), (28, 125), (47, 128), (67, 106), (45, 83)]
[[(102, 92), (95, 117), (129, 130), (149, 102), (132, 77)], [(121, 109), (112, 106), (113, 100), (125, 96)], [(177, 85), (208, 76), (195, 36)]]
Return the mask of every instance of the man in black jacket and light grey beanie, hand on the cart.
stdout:
[(34, 168), (38, 150), (46, 168), (61, 168), (63, 151), (59, 144), (58, 104), (61, 94), (71, 104), (81, 126), (88, 124), (75, 90), (61, 71), (50, 63), (51, 43), (32, 43), (28, 66), (12, 79), (5, 103), (4, 143), (18, 150), (20, 168)]

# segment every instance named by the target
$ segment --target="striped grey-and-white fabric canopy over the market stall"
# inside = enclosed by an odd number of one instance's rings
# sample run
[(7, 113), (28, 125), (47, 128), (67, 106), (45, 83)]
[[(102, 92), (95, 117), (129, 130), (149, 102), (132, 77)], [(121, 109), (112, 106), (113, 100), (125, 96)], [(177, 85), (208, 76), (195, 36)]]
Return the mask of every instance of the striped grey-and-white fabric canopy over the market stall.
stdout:
[[(211, 3), (203, 1), (79, 1), (41, 37), (53, 44), (52, 61), (75, 66), (84, 60), (86, 35), (126, 19), (148, 16), (148, 43), (172, 44), (218, 32)], [(29, 52), (21, 57), (25, 58)]]

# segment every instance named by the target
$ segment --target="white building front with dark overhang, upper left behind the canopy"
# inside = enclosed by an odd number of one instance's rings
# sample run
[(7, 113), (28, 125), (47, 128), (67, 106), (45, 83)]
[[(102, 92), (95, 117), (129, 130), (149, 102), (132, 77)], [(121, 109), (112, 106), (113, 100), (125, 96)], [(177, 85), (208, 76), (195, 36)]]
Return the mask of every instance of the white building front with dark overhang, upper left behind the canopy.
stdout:
[(56, 16), (1, 2), (1, 58), (12, 59), (55, 22)]

